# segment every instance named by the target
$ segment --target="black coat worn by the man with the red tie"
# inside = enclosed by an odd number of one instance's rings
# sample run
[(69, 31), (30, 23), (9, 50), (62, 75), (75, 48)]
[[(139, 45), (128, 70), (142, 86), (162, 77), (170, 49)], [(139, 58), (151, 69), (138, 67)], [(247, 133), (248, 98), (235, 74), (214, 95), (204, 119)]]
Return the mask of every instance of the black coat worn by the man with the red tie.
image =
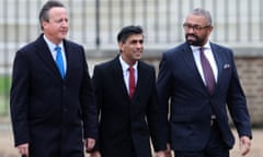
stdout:
[(153, 67), (138, 62), (133, 99), (124, 83), (118, 56), (94, 68), (93, 83), (100, 109), (99, 149), (103, 157), (150, 157), (150, 136), (158, 145), (158, 99)]

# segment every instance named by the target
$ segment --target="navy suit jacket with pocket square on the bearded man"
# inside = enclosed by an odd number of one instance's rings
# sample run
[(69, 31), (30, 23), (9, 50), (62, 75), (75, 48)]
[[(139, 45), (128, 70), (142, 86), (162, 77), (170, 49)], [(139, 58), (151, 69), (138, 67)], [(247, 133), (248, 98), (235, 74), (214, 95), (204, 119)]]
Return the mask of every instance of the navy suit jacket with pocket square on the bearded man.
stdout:
[(210, 47), (218, 69), (213, 95), (208, 94), (203, 83), (188, 44), (184, 43), (162, 56), (157, 82), (162, 142), (171, 143), (175, 150), (201, 150), (205, 147), (210, 132), (211, 110), (222, 141), (229, 148), (233, 146), (235, 138), (227, 110), (239, 135), (251, 137), (250, 116), (233, 53), (216, 44), (210, 44)]

